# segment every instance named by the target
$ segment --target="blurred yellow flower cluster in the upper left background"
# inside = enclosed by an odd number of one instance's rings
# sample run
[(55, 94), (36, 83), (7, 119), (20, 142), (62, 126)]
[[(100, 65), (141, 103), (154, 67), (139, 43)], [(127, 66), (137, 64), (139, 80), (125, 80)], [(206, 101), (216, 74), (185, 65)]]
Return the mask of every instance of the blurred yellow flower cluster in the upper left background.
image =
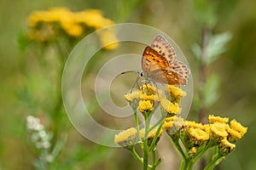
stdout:
[[(74, 39), (81, 38), (85, 33), (113, 25), (113, 21), (104, 18), (100, 10), (72, 12), (68, 8), (59, 7), (32, 12), (27, 18), (27, 25), (27, 37), (30, 41), (50, 42), (63, 34)], [(113, 49), (118, 46), (118, 43), (108, 44), (116, 41), (113, 30), (101, 31), (99, 36), (106, 48)]]

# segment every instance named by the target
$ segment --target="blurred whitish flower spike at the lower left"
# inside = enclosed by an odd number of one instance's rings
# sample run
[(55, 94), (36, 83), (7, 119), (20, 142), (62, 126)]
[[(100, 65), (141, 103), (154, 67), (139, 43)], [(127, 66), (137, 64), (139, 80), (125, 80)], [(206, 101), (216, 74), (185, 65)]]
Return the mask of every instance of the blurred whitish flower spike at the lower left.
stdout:
[(49, 154), (51, 136), (45, 131), (44, 125), (40, 123), (39, 118), (27, 116), (26, 128), (30, 133), (32, 143), (41, 151), (41, 155), (44, 156), (44, 160), (49, 162), (52, 161), (53, 157)]

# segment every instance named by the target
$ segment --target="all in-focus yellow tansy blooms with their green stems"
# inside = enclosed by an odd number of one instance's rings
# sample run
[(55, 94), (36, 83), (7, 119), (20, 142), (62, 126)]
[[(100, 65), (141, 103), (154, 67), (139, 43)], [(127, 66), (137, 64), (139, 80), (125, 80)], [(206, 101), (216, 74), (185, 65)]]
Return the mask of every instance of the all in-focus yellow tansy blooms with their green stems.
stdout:
[[(165, 96), (160, 89), (154, 88), (151, 84), (144, 84), (139, 90), (132, 90), (125, 95), (125, 99), (134, 111), (136, 128), (131, 127), (114, 136), (114, 143), (119, 144), (131, 151), (137, 161), (143, 163), (144, 169), (154, 169), (161, 161), (155, 161), (155, 149), (160, 140), (162, 130), (171, 137), (172, 144), (182, 156), (183, 169), (192, 169), (197, 161), (208, 149), (215, 147), (217, 152), (212, 156), (212, 161), (206, 169), (212, 169), (218, 162), (224, 159), (232, 150), (236, 149), (236, 141), (247, 133), (247, 127), (240, 122), (228, 117), (208, 116), (209, 123), (183, 120), (177, 116), (181, 113), (179, 102), (186, 95), (181, 88), (173, 85), (166, 85)], [(150, 125), (150, 119), (156, 108), (160, 105), (162, 117), (154, 125)], [(145, 126), (139, 129), (137, 111), (140, 111), (145, 119)], [(147, 138), (145, 138), (147, 136)], [(143, 158), (138, 156), (135, 144), (141, 145)], [(148, 159), (152, 152), (153, 163), (150, 165)]]

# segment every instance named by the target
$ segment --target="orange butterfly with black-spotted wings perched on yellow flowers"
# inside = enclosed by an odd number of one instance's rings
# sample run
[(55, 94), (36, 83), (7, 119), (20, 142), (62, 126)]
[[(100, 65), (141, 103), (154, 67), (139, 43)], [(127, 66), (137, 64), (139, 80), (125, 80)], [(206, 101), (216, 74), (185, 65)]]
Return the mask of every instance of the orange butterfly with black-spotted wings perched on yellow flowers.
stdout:
[(177, 61), (174, 48), (161, 35), (144, 49), (142, 69), (143, 77), (149, 81), (170, 85), (186, 85), (190, 74), (187, 65)]

